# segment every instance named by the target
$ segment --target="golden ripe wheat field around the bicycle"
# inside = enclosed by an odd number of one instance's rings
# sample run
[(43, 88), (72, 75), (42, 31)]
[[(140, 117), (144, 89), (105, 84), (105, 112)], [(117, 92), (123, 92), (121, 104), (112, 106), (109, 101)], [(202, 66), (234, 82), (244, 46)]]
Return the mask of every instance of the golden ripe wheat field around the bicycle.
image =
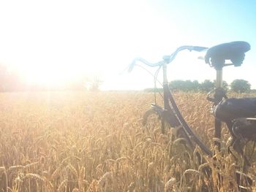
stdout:
[[(206, 94), (174, 96), (189, 125), (214, 146)], [(143, 127), (152, 101), (139, 92), (1, 93), (0, 191), (238, 191), (242, 164), (227, 154), (227, 130), (214, 160), (189, 149), (176, 129)], [(255, 179), (255, 164), (248, 172)]]

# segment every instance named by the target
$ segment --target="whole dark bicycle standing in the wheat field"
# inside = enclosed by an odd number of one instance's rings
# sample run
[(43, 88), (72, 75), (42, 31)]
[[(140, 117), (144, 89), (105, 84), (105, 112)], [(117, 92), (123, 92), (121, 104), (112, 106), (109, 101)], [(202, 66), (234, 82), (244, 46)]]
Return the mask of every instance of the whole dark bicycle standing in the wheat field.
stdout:
[[(173, 99), (173, 95), (170, 91), (167, 81), (167, 64), (170, 64), (176, 58), (176, 55), (182, 50), (189, 51), (207, 51), (205, 56), (206, 64), (214, 67), (217, 71), (216, 88), (214, 91), (208, 93), (207, 100), (213, 102), (213, 115), (214, 115), (214, 137), (221, 138), (222, 122), (226, 123), (230, 135), (232, 137), (231, 145), (236, 152), (244, 158), (246, 166), (249, 166), (249, 159), (244, 155), (242, 149), (244, 142), (256, 141), (256, 99), (228, 99), (225, 90), (222, 88), (222, 69), (225, 66), (241, 66), (244, 61), (245, 53), (250, 50), (250, 45), (247, 42), (229, 42), (221, 45), (217, 45), (211, 48), (199, 47), (199, 46), (181, 46), (176, 49), (171, 55), (165, 55), (162, 61), (155, 64), (151, 64), (143, 58), (135, 58), (132, 64), (129, 65), (128, 71), (131, 72), (133, 67), (138, 61), (146, 64), (147, 66), (158, 66), (157, 72), (154, 76), (155, 90), (156, 81), (159, 69), (162, 68), (163, 72), (163, 102), (164, 107), (159, 106), (156, 103), (156, 91), (154, 92), (155, 103), (151, 104), (151, 109), (145, 112), (143, 115), (143, 125), (145, 126), (150, 115), (157, 115), (161, 122), (162, 134), (165, 134), (165, 128), (179, 128), (179, 137), (184, 138), (187, 141), (187, 145), (195, 150), (195, 146), (198, 145), (200, 149), (206, 155), (213, 157), (214, 153), (203, 143), (199, 137), (192, 131), (186, 120), (184, 120), (181, 112), (178, 110), (176, 101)], [(226, 61), (230, 60), (230, 64), (226, 64)], [(213, 96), (211, 96), (213, 94)], [(239, 112), (243, 109), (244, 112)], [(254, 135), (252, 135), (254, 134)], [(215, 142), (217, 148), (220, 148), (219, 142)], [(232, 153), (230, 147), (229, 153)], [(235, 156), (235, 155), (234, 155)], [(236, 157), (236, 156), (235, 156)], [(236, 172), (238, 176), (241, 176), (240, 172)], [(252, 185), (252, 180), (246, 177), (248, 183)]]

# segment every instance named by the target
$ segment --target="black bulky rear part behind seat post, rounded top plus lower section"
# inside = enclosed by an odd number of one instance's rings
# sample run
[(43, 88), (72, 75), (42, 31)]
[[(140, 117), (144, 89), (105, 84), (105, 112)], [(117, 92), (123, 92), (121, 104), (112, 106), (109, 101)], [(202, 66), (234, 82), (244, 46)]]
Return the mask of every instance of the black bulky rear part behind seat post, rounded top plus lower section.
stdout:
[(256, 141), (256, 119), (250, 118), (256, 115), (256, 98), (225, 99), (214, 107), (213, 113), (216, 119), (227, 124), (233, 138), (230, 145), (244, 158), (245, 166), (250, 166), (243, 147), (248, 141)]

